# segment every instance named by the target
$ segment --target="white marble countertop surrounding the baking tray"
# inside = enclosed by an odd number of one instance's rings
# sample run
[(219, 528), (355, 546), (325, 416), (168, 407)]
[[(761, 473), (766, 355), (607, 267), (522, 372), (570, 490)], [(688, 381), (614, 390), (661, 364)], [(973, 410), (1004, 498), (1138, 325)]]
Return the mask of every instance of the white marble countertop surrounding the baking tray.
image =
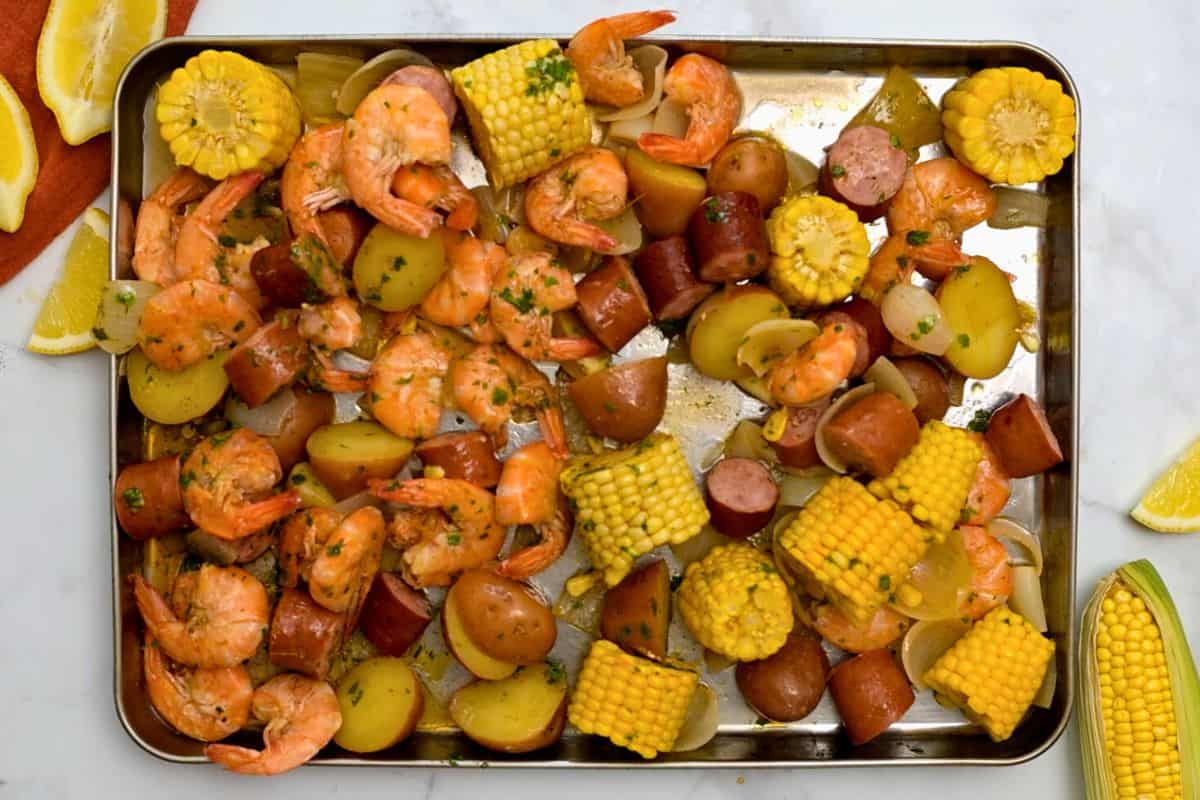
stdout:
[[(622, 8), (638, 7), (622, 0)], [(542, 11), (553, 6), (550, 11)], [(1126, 510), (1200, 433), (1195, 360), (1194, 148), (1200, 6), (1154, 0), (701, 0), (676, 34), (1007, 38), (1075, 77), (1084, 112), (1082, 440), (1079, 587), (1151, 558), (1200, 645), (1200, 549)], [(614, 6), (458, 0), (200, 0), (197, 34), (568, 31)], [(1178, 76), (1182, 76), (1178, 77)], [(1180, 155), (1180, 158), (1174, 158)], [(106, 206), (107, 207), (107, 206)], [(1043, 757), (997, 769), (467, 771), (306, 768), (251, 781), (174, 766), (121, 730), (112, 699), (107, 359), (34, 356), (23, 344), (66, 251), (56, 241), (0, 288), (0, 798), (1080, 798), (1074, 726)]]

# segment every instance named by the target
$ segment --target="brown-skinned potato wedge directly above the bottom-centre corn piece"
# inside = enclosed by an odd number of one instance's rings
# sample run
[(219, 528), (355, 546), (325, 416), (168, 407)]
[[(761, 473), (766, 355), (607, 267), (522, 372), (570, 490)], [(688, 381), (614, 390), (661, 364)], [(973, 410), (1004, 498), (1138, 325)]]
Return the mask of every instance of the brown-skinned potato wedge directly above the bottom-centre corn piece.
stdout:
[(626, 650), (662, 658), (671, 624), (671, 572), (650, 561), (605, 593), (600, 634)]

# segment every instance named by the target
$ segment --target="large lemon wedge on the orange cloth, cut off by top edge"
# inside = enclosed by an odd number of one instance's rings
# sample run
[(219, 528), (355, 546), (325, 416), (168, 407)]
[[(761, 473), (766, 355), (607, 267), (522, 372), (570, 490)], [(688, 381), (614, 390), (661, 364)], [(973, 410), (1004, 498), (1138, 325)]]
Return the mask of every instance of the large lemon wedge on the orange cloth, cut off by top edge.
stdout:
[(37, 90), (68, 144), (113, 127), (130, 59), (167, 29), (167, 0), (53, 0), (37, 41)]

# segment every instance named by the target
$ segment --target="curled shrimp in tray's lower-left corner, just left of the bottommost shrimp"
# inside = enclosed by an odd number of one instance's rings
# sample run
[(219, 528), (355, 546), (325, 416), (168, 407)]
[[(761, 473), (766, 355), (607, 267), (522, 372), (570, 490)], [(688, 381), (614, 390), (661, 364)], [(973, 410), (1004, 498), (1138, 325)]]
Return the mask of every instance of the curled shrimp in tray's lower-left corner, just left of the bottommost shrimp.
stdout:
[(150, 703), (185, 736), (220, 741), (240, 730), (250, 720), (254, 686), (244, 666), (172, 664), (149, 637), (142, 648), (142, 666)]

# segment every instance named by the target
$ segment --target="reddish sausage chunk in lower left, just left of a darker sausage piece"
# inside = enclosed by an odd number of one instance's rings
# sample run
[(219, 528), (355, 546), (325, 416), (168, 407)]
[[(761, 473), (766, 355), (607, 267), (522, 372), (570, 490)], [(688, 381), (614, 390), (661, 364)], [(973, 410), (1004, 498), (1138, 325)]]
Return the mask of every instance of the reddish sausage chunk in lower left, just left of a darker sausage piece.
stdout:
[(284, 589), (271, 618), (271, 663), (324, 680), (342, 646), (344, 625), (341, 614), (318, 606), (307, 591)]

